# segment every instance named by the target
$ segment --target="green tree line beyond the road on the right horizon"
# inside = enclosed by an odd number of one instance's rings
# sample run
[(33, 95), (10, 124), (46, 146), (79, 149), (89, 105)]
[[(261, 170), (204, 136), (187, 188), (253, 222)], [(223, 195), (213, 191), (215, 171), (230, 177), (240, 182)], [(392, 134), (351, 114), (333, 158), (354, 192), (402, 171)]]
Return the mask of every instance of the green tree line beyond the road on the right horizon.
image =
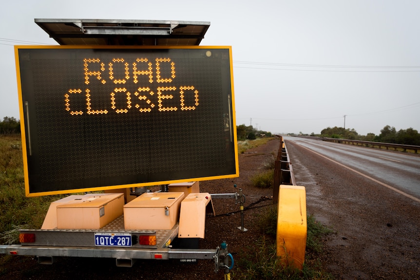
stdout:
[[(311, 136), (315, 136), (314, 133)], [(318, 135), (317, 135), (318, 136)], [(326, 128), (321, 131), (321, 137), (362, 140), (370, 142), (393, 143), (402, 145), (420, 146), (420, 133), (413, 129), (401, 129), (397, 131), (395, 127), (385, 126), (379, 135), (375, 133), (367, 133), (367, 135), (359, 135), (354, 129), (344, 129), (341, 127)]]

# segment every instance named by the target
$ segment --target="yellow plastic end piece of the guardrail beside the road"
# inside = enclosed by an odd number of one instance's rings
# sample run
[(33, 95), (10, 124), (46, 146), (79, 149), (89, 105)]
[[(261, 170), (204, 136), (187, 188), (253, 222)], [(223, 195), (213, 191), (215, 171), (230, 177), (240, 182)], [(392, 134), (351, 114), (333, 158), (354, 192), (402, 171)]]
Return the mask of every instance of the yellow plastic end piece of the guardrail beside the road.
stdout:
[(305, 187), (280, 185), (277, 207), (277, 256), (284, 264), (302, 269), (307, 234)]

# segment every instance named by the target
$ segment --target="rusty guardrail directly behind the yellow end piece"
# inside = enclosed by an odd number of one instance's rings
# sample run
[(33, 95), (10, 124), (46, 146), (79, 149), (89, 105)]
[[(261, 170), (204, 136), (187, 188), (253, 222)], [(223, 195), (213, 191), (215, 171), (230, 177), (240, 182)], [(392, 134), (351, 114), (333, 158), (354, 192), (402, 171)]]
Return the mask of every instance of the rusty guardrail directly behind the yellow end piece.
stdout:
[[(281, 135), (276, 135), (280, 138), (280, 148), (277, 152), (276, 160), (274, 161), (274, 187), (273, 187), (273, 201), (277, 201), (279, 198), (280, 185), (292, 185), (296, 186), (295, 176), (293, 174), (293, 168), (290, 164), (289, 154), (285, 141)], [(277, 186), (277, 187), (276, 187)]]

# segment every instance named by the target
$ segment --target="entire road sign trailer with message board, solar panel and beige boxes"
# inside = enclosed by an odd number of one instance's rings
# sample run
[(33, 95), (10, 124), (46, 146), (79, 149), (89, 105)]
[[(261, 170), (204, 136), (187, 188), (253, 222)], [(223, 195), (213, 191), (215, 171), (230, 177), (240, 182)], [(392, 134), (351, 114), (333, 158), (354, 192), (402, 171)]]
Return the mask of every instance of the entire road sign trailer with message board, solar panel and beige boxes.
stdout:
[(60, 45), (15, 46), (25, 194), (71, 195), (0, 253), (212, 259), (228, 274), (226, 242), (197, 241), (214, 214), (199, 182), (239, 176), (231, 47), (199, 46), (210, 22), (35, 22)]

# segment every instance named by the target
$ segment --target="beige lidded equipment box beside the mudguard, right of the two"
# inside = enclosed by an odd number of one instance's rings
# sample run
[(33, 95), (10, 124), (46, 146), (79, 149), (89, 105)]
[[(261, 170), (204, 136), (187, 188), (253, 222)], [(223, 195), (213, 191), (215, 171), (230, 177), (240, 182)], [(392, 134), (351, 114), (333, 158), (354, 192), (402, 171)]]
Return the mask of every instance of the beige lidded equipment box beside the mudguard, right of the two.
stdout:
[(183, 192), (146, 192), (124, 205), (125, 229), (172, 229), (179, 218)]

